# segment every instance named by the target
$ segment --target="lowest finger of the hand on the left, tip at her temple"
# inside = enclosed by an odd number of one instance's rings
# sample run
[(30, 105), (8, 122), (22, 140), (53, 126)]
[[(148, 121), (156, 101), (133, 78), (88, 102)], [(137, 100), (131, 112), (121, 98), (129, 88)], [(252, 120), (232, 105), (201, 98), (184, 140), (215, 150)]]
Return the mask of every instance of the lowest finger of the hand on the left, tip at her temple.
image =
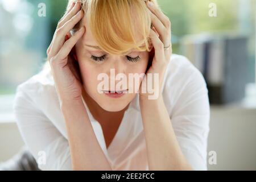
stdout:
[(71, 52), (72, 48), (75, 46), (77, 41), (81, 38), (81, 36), (85, 32), (85, 27), (82, 26), (79, 31), (77, 31), (70, 39), (68, 39), (63, 47), (61, 47), (60, 51), (57, 53), (57, 57), (61, 60), (64, 60), (69, 53)]

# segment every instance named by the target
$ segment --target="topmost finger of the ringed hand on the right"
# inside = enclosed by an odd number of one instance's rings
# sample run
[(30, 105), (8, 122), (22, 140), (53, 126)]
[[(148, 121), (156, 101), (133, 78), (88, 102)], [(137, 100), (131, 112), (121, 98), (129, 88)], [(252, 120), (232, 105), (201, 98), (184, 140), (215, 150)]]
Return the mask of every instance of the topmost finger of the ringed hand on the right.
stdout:
[(150, 11), (159, 18), (159, 20), (163, 23), (164, 27), (171, 28), (171, 22), (168, 16), (164, 15), (164, 13), (158, 7), (156, 7), (154, 3), (147, 1), (146, 5), (148, 9), (150, 9)]

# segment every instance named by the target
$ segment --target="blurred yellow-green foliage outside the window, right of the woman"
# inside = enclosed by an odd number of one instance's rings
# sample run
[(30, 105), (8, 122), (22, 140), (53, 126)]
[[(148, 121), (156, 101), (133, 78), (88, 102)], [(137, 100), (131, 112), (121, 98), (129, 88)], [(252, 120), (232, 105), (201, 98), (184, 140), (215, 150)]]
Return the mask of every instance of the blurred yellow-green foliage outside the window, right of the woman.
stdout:
[[(179, 51), (179, 38), (187, 34), (202, 32), (217, 34), (233, 34), (240, 30), (240, 0), (158, 0), (160, 8), (172, 24), (172, 42), (174, 52)], [(217, 16), (209, 16), (209, 4), (215, 3)], [(248, 21), (250, 40), (249, 49), (254, 54), (255, 7), (256, 1), (249, 0), (250, 16)], [(241, 33), (241, 32), (240, 32)], [(174, 39), (175, 38), (175, 39)]]

